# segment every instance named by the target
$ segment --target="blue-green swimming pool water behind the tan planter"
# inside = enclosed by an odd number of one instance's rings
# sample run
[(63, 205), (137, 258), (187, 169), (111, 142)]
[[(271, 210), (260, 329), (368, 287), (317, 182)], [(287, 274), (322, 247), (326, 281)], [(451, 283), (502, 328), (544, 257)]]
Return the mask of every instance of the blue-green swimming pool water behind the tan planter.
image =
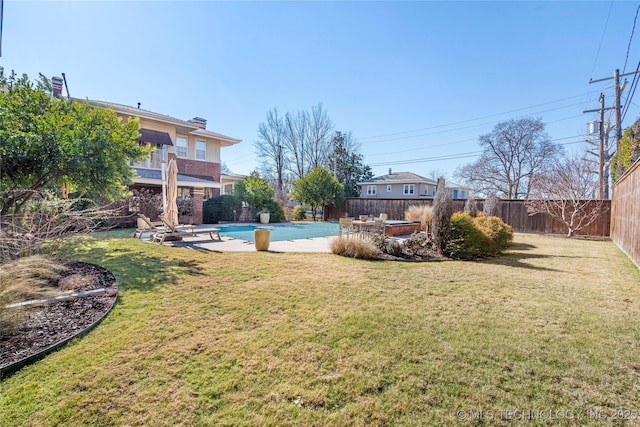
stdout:
[(271, 230), (271, 241), (310, 239), (312, 237), (336, 236), (337, 222), (300, 222), (264, 225), (220, 225), (220, 234), (234, 239), (253, 242), (256, 228)]

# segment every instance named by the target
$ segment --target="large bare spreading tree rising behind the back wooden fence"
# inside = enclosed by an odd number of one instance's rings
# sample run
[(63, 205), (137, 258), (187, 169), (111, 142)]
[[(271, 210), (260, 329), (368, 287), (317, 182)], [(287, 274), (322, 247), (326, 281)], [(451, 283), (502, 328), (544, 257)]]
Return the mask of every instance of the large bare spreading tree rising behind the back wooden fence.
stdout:
[(509, 120), (480, 136), (484, 151), (475, 162), (459, 168), (456, 176), (485, 194), (507, 199), (527, 198), (531, 177), (562, 154), (553, 145), (540, 119)]

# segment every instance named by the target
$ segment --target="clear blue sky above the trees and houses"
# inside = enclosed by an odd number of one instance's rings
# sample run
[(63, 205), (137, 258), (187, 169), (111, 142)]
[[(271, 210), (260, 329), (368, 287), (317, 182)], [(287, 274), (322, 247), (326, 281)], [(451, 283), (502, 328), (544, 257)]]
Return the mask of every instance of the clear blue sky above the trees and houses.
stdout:
[[(503, 120), (540, 117), (554, 141), (584, 150), (596, 115), (582, 111), (601, 91), (613, 103), (612, 81), (589, 80), (640, 61), (639, 5), (4, 0), (0, 65), (33, 79), (65, 73), (74, 97), (204, 117), (243, 140), (222, 150), (232, 172), (259, 165), (268, 110), (322, 103), (376, 175), (451, 179)], [(625, 126), (639, 106), (640, 96)]]

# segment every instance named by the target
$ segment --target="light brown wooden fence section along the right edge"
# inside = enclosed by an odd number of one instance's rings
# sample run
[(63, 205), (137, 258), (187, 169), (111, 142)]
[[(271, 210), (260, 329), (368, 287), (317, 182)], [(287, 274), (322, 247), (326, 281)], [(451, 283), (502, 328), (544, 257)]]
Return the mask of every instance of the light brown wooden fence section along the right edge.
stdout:
[(640, 160), (613, 185), (611, 239), (640, 267)]

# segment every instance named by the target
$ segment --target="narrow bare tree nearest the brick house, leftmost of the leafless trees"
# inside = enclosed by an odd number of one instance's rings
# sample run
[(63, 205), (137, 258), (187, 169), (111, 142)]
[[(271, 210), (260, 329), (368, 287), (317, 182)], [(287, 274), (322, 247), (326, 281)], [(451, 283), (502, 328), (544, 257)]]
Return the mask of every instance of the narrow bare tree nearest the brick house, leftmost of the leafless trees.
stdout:
[(278, 115), (277, 108), (268, 111), (266, 121), (258, 125), (258, 140), (254, 145), (262, 159), (262, 174), (273, 182), (277, 192), (283, 192), (288, 158), (284, 120)]

